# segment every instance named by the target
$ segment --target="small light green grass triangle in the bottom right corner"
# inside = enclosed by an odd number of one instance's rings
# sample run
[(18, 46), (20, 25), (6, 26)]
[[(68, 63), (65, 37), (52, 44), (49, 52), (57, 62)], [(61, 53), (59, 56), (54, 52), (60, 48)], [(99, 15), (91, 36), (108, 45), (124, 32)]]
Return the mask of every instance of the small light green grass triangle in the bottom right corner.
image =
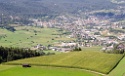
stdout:
[(109, 76), (125, 76), (125, 58), (121, 60), (118, 66), (110, 72)]

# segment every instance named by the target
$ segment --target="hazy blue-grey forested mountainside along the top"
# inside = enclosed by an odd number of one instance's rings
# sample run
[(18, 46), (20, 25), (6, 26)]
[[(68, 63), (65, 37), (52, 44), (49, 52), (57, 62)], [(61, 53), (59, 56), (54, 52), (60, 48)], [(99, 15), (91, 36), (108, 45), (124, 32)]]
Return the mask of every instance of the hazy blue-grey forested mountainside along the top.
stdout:
[(0, 0), (0, 14), (37, 16), (112, 9), (110, 0)]

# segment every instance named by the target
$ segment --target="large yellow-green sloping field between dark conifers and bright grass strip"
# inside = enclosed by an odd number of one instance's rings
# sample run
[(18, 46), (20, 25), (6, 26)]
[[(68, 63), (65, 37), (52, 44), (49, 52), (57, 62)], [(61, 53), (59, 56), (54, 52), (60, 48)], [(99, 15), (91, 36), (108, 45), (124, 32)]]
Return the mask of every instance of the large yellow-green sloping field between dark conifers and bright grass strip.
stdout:
[(34, 65), (66, 66), (85, 68), (102, 73), (108, 73), (122, 57), (122, 55), (106, 54), (99, 51), (90, 50), (98, 49), (91, 48), (82, 52), (71, 52), (66, 54), (28, 58), (8, 62), (7, 64), (29, 63)]

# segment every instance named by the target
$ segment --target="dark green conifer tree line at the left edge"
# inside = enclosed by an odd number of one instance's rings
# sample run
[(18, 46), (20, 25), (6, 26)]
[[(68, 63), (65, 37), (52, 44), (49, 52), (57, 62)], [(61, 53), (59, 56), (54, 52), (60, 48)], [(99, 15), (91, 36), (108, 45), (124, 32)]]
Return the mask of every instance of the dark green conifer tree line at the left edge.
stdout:
[(44, 54), (44, 52), (37, 52), (30, 49), (0, 46), (0, 63)]

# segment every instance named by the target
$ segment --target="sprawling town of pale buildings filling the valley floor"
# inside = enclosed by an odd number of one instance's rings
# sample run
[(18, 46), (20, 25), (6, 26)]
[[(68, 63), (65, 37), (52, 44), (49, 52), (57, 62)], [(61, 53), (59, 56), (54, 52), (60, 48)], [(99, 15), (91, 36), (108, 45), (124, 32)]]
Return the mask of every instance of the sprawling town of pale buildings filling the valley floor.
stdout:
[(59, 16), (55, 20), (42, 21), (32, 19), (35, 26), (42, 28), (59, 28), (70, 32), (68, 38), (76, 40), (62, 41), (56, 46), (35, 46), (36, 49), (50, 49), (60, 52), (69, 52), (77, 48), (101, 46), (100, 50), (113, 50), (116, 44), (125, 41), (125, 22), (111, 22), (109, 19), (100, 19), (96, 16), (88, 18)]

